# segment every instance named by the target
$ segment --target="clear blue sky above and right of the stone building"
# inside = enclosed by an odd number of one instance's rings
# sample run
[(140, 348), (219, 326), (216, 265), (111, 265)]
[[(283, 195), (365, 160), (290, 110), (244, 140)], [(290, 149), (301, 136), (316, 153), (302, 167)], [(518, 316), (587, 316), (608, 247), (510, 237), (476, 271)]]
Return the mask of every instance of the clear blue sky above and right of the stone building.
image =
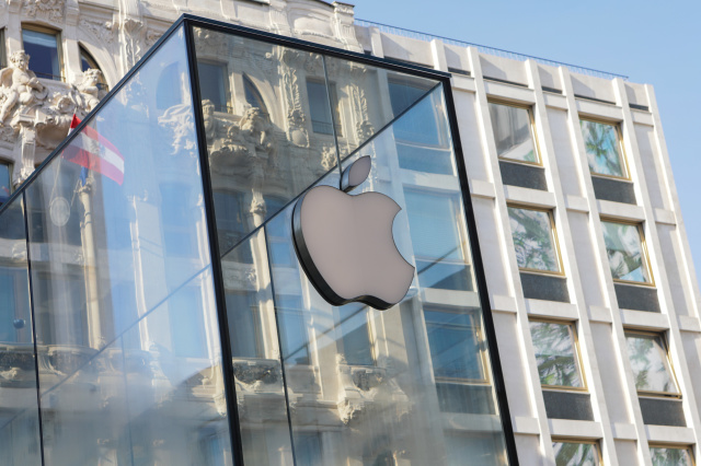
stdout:
[[(701, 278), (701, 2), (347, 0), (355, 15), (630, 77), (655, 86)], [(699, 115), (697, 115), (699, 114)], [(698, 126), (699, 125), (699, 126)]]

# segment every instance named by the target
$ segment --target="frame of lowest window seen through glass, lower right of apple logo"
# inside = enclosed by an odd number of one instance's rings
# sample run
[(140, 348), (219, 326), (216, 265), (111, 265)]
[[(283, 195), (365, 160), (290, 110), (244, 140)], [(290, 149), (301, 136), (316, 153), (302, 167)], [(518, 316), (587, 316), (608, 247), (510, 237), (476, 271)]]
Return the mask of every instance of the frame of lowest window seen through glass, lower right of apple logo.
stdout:
[[(434, 360), (433, 357), (430, 354), (430, 341), (428, 339), (428, 323), (426, 321), (426, 311), (428, 312), (441, 312), (441, 313), (450, 313), (450, 314), (461, 314), (461, 315), (467, 315), (470, 319), (470, 329), (473, 330), (473, 335), (475, 336), (475, 340), (478, 341), (479, 346), (480, 346), (480, 361), (482, 363), (482, 372), (484, 375), (484, 378), (466, 378), (466, 377), (446, 377), (446, 376), (436, 376), (436, 370), (435, 370), (435, 364), (434, 364)], [(491, 361), (490, 361), (490, 354), (489, 351), (486, 351), (485, 349), (485, 342), (486, 342), (486, 335), (484, 334), (483, 330), (483, 325), (481, 321), (476, 322), (475, 325), (475, 319), (480, 319), (481, 318), (481, 314), (479, 314), (479, 311), (474, 311), (474, 310), (470, 310), (469, 307), (463, 307), (463, 306), (451, 306), (451, 305), (440, 305), (440, 304), (428, 304), (425, 303), (422, 307), (421, 307), (421, 313), (422, 316), (421, 318), (423, 319), (423, 325), (424, 325), (424, 330), (426, 333), (426, 346), (428, 347), (428, 358), (430, 360), (430, 369), (432, 369), (432, 376), (434, 378), (434, 383), (448, 383), (448, 384), (461, 384), (461, 385), (476, 385), (476, 386), (492, 386), (493, 384), (493, 377), (492, 377), (492, 371), (490, 370), (491, 365)], [(446, 324), (441, 324), (441, 326), (445, 326)], [(464, 327), (461, 327), (464, 328)]]

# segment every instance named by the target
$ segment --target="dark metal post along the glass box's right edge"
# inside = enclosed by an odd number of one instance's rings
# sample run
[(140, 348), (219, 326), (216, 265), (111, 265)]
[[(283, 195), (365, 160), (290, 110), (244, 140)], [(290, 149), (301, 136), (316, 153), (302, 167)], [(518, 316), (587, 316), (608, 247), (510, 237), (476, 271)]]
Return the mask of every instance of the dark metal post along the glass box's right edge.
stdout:
[(486, 275), (484, 273), (484, 264), (482, 261), (482, 252), (480, 251), (480, 241), (478, 237), (478, 226), (474, 219), (474, 209), (472, 208), (472, 197), (470, 195), (470, 185), (468, 172), (464, 164), (462, 143), (460, 142), (460, 133), (458, 132), (458, 119), (456, 116), (456, 106), (452, 100), (452, 89), (450, 79), (443, 79), (443, 95), (446, 100), (446, 116), (452, 138), (452, 149), (458, 166), (458, 177), (460, 179), (460, 190), (462, 193), (462, 203), (464, 208), (466, 222), (468, 224), (468, 241), (472, 254), (472, 266), (474, 267), (474, 277), (476, 279), (478, 291), (480, 293), (480, 304), (482, 307), (482, 319), (484, 322), (484, 331), (486, 334), (486, 343), (490, 349), (490, 360), (492, 361), (492, 374), (494, 375), (494, 389), (496, 392), (497, 404), (499, 407), (499, 418), (502, 429), (504, 430), (504, 440), (506, 443), (506, 453), (510, 466), (518, 466), (518, 455), (516, 451), (516, 440), (514, 438), (514, 426), (512, 423), (512, 415), (508, 410), (508, 399), (506, 398), (506, 386), (504, 384), (504, 374), (502, 372), (502, 360), (499, 358), (496, 330), (494, 327), (494, 318), (492, 316), (492, 306), (490, 305), (490, 294), (486, 288)]

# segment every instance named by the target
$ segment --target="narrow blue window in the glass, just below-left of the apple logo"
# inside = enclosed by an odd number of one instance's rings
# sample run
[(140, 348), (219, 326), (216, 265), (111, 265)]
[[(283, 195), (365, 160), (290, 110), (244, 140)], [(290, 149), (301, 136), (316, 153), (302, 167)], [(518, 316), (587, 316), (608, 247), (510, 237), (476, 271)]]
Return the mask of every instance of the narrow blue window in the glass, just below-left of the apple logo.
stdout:
[(309, 337), (301, 296), (276, 295), (275, 313), (285, 364), (310, 364)]

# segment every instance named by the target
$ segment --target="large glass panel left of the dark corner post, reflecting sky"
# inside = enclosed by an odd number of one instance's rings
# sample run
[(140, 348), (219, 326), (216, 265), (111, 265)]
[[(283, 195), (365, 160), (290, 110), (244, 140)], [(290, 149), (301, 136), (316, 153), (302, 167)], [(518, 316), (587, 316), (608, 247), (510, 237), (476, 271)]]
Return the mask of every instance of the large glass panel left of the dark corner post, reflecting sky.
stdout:
[(185, 49), (26, 187), (47, 465), (231, 462)]

